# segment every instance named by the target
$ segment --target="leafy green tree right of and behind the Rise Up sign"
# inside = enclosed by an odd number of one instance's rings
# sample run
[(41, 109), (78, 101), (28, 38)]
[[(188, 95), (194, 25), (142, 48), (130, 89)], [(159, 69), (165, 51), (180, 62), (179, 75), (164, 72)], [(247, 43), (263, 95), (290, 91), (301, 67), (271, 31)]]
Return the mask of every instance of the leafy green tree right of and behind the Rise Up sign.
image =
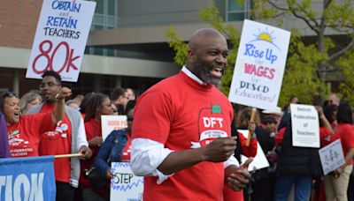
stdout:
[[(326, 86), (328, 79), (344, 77), (340, 85), (343, 100), (354, 104), (354, 4), (352, 0), (322, 0), (313, 9), (312, 0), (253, 0), (254, 19), (273, 19), (279, 25), (283, 19), (296, 19), (312, 31), (315, 40), (306, 43), (298, 30), (292, 30), (287, 67), (281, 88), (280, 105), (292, 95), (305, 103), (312, 103), (312, 97), (325, 98), (330, 93)], [(320, 11), (319, 11), (320, 10)], [(347, 43), (335, 41), (328, 33), (348, 38)]]

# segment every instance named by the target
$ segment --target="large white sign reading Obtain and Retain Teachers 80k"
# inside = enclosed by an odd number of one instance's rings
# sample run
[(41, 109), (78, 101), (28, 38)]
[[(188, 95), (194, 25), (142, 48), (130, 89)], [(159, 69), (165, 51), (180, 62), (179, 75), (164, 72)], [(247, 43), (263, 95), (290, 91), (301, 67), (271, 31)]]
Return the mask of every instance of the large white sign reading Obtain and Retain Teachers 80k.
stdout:
[(56, 71), (63, 81), (77, 81), (95, 7), (89, 1), (43, 0), (26, 78)]

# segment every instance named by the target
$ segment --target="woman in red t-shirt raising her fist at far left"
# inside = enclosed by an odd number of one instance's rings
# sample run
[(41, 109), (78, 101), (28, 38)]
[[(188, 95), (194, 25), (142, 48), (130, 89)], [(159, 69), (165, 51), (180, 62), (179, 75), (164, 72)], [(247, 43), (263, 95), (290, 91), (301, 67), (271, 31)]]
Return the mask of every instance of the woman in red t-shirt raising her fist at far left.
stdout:
[(6, 120), (11, 157), (38, 156), (38, 145), (43, 131), (53, 130), (64, 118), (65, 100), (71, 90), (63, 87), (57, 94), (58, 104), (47, 113), (21, 115), (19, 96), (16, 93), (5, 93), (2, 100), (2, 111)]

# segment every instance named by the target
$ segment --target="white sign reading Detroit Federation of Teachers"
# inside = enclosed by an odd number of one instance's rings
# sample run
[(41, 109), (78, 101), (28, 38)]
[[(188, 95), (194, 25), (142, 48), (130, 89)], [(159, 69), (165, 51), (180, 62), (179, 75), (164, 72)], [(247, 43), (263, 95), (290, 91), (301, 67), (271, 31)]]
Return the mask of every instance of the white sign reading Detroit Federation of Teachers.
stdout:
[(319, 148), (319, 114), (315, 107), (290, 104), (293, 146)]

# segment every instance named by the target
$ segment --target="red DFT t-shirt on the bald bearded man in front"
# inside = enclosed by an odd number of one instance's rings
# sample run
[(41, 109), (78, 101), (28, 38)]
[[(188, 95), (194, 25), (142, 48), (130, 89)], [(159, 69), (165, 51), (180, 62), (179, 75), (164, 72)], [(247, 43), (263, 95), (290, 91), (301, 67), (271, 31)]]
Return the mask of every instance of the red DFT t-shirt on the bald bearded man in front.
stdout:
[[(215, 86), (202, 86), (184, 72), (166, 78), (137, 100), (134, 138), (149, 138), (174, 151), (205, 146), (230, 136), (234, 111)], [(143, 200), (222, 200), (222, 162), (201, 162), (157, 184), (145, 176)]]

